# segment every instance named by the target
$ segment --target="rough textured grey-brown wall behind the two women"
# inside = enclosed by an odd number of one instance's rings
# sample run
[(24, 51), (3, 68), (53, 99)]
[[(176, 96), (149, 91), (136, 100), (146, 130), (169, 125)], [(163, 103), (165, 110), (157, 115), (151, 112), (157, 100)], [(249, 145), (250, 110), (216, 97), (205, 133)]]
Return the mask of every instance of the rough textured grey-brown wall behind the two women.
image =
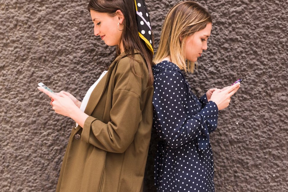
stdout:
[[(161, 24), (178, 1), (147, 0), (158, 47)], [(218, 192), (288, 191), (288, 1), (199, 1), (213, 16), (208, 50), (187, 74), (200, 96), (244, 79), (211, 135)], [(87, 1), (0, 1), (0, 191), (55, 191), (73, 121), (37, 90), (84, 97), (113, 60), (93, 35)], [(153, 186), (156, 135), (145, 175)]]

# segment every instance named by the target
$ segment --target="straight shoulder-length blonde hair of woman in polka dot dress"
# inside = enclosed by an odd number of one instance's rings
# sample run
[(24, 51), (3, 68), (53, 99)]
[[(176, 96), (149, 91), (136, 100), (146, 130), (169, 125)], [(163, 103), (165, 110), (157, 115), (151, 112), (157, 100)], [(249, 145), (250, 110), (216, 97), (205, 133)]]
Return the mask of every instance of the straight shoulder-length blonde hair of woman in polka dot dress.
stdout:
[(194, 72), (195, 63), (187, 61), (185, 56), (185, 41), (195, 32), (212, 23), (208, 11), (195, 1), (183, 1), (174, 5), (162, 25), (158, 51), (154, 62), (159, 63), (169, 57), (181, 70)]

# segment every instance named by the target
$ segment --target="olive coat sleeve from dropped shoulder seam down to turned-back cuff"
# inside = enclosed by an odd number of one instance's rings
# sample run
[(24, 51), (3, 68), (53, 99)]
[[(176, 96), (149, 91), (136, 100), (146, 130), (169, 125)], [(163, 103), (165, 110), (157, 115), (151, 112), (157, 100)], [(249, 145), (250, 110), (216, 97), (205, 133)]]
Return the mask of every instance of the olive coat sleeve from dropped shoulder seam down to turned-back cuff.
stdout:
[(89, 116), (81, 140), (105, 151), (123, 153), (134, 140), (141, 121), (140, 98), (133, 92), (120, 90), (114, 92), (113, 99), (110, 121)]

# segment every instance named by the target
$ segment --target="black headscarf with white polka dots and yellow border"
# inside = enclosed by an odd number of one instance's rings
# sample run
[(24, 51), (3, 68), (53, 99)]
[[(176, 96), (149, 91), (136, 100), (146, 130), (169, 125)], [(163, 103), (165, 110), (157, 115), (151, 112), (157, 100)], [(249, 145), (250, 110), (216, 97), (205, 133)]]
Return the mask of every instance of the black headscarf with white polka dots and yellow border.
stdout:
[(140, 38), (145, 41), (150, 51), (152, 51), (152, 53), (154, 54), (150, 16), (148, 13), (148, 9), (143, 0), (135, 0), (135, 6), (137, 15), (138, 34)]

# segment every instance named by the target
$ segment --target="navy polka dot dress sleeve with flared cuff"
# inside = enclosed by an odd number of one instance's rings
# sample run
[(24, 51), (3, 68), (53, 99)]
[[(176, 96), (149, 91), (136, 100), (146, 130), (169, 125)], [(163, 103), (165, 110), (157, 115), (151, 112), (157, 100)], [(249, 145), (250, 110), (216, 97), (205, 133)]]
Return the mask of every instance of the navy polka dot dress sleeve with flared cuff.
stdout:
[(198, 137), (199, 148), (206, 148), (209, 145), (208, 127), (217, 126), (217, 105), (210, 101), (198, 113), (189, 115), (187, 108), (194, 111), (198, 108), (196, 103), (186, 102), (186, 95), (189, 94), (180, 74), (166, 74), (158, 78), (154, 85), (154, 114), (159, 122), (155, 128), (161, 132), (161, 139), (169, 147), (177, 148)]

